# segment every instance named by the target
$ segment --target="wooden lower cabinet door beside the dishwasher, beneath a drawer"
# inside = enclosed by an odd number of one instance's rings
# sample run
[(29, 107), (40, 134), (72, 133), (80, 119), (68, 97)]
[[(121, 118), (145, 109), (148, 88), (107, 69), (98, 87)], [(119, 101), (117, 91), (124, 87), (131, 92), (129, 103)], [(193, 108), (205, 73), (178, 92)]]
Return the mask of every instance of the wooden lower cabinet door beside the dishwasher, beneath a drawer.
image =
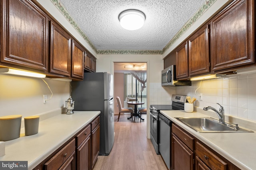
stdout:
[(172, 169), (193, 170), (194, 153), (172, 133)]

